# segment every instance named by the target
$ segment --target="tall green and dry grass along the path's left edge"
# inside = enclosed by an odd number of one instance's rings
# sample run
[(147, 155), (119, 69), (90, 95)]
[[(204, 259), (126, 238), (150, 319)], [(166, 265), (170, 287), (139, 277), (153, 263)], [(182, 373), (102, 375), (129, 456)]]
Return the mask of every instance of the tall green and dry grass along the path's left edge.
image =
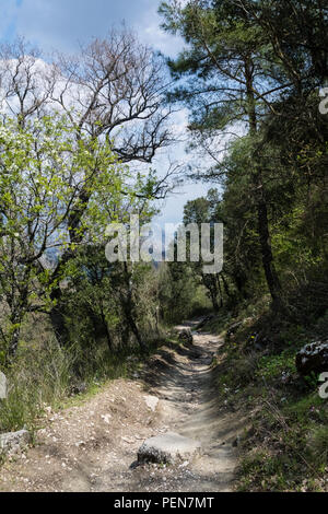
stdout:
[(26, 428), (34, 435), (47, 407), (60, 409), (97, 393), (108, 381), (138, 376), (144, 360), (166, 341), (164, 331), (149, 339), (147, 354), (137, 344), (110, 352), (104, 341), (61, 348), (42, 328), (34, 341), (22, 341), (11, 365), (4, 367), (0, 359), (8, 379), (8, 397), (0, 400), (0, 433)]

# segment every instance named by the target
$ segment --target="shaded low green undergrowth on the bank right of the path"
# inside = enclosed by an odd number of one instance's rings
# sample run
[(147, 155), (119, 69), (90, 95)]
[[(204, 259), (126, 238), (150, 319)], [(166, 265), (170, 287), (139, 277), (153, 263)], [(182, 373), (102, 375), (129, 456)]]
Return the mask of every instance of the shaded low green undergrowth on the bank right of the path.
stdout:
[(328, 402), (318, 377), (301, 378), (295, 369), (297, 351), (327, 330), (327, 319), (295, 326), (271, 318), (262, 304), (253, 316), (242, 312), (231, 336), (226, 313), (206, 327), (225, 334), (215, 370), (222, 409), (249, 420), (238, 445), (238, 491), (328, 490)]

